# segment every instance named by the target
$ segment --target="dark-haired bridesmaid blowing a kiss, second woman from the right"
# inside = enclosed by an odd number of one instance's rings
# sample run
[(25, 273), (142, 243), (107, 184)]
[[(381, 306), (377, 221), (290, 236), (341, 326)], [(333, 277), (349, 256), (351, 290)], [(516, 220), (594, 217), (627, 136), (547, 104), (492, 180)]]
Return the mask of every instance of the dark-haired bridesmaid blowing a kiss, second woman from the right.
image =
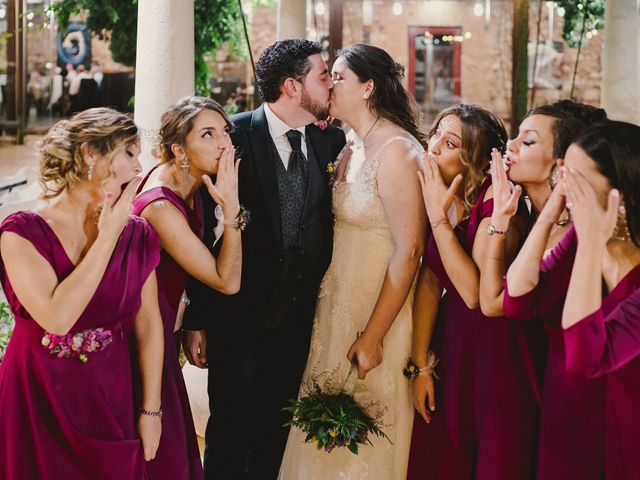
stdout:
[[(553, 194), (552, 190), (558, 178), (556, 167), (570, 143), (590, 124), (605, 118), (603, 110), (570, 100), (536, 107), (527, 114), (518, 136), (509, 144), (508, 171), (492, 168), (495, 207), (492, 225), (499, 230), (511, 227), (510, 218), (516, 212), (521, 193), (530, 200), (532, 219), (537, 218), (531, 232), (526, 232), (528, 239), (514, 261), (514, 268), (522, 265), (523, 259), (535, 250), (537, 257), (529, 260), (527, 266), (537, 276), (543, 252), (552, 250), (551, 255), (542, 260), (541, 291), (519, 299), (505, 297), (504, 275), (509, 267), (505, 240), (502, 235), (493, 235), (480, 279), (480, 305), (485, 314), (506, 313), (511, 318), (526, 319), (544, 325), (549, 335), (537, 462), (537, 475), (541, 480), (597, 479), (603, 468), (599, 447), (603, 442), (603, 417), (592, 411), (591, 403), (584, 401), (585, 398), (603, 399), (602, 386), (568, 374), (564, 367), (560, 315), (575, 252), (575, 232), (564, 236), (570, 227), (568, 214), (561, 213), (564, 207), (561, 190), (555, 189)], [(502, 164), (500, 156), (494, 154), (493, 166)], [(518, 184), (513, 192), (508, 180)], [(562, 220), (558, 221), (560, 215)], [(560, 239), (563, 240), (558, 243)], [(584, 418), (589, 421), (585, 422)], [(560, 455), (566, 445), (572, 445), (571, 451)]]

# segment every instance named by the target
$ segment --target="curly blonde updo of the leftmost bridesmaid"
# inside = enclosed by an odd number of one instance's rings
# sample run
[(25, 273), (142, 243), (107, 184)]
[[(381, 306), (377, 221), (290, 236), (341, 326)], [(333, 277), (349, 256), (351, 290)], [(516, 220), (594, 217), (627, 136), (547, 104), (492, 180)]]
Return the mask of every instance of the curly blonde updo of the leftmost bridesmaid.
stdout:
[(87, 177), (83, 144), (110, 164), (136, 141), (138, 128), (131, 117), (111, 108), (90, 108), (59, 121), (38, 143), (43, 198), (54, 198)]

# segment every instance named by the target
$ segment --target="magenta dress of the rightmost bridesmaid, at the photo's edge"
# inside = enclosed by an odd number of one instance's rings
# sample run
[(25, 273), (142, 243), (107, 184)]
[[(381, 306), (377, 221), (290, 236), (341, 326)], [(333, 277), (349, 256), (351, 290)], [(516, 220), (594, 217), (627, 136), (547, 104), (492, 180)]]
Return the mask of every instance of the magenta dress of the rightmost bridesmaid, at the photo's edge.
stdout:
[(607, 480), (640, 478), (640, 265), (564, 339), (567, 369), (605, 382)]

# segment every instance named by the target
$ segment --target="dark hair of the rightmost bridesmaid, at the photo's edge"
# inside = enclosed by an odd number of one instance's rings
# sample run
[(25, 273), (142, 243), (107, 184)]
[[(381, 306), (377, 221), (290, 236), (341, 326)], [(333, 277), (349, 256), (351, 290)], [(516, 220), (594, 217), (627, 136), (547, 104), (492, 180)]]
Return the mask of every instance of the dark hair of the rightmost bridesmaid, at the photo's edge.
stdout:
[(588, 128), (574, 143), (622, 195), (631, 240), (640, 247), (640, 127), (609, 120)]

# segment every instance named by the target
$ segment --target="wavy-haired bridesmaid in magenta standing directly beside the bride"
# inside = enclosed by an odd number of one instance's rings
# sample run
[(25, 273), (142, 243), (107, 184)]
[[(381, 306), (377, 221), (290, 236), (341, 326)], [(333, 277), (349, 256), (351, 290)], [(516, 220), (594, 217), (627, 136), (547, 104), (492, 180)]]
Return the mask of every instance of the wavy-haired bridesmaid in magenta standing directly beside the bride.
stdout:
[[(484, 258), (492, 212), (491, 182), (482, 172), (492, 147), (505, 141), (502, 122), (475, 105), (445, 110), (430, 134), (421, 180), (432, 235), (415, 295), (412, 348), (424, 374), (412, 385), (420, 416), (409, 479), (526, 479), (535, 469), (542, 337), (535, 325), (479, 309), (476, 262)], [(440, 357), (435, 395), (429, 348)]]

